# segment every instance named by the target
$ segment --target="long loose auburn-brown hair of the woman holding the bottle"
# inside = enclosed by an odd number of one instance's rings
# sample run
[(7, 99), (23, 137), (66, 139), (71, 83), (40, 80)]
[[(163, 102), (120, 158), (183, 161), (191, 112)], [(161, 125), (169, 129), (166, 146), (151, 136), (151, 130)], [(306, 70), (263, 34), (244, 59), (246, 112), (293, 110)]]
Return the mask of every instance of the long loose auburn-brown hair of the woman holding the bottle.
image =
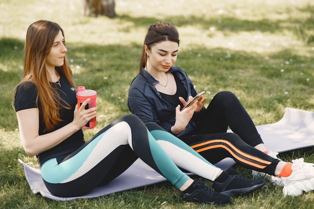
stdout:
[[(43, 115), (47, 130), (51, 130), (60, 121), (59, 109), (61, 107), (70, 109), (69, 106), (61, 103), (61, 98), (57, 89), (53, 88), (49, 82), (49, 74), (46, 69), (46, 59), (52, 49), (54, 40), (59, 32), (64, 33), (62, 28), (50, 21), (40, 20), (30, 25), (27, 30), (24, 53), (24, 73), (22, 81), (16, 86), (13, 94), (12, 104), (14, 106), (14, 95), (17, 88), (24, 82), (35, 84), (38, 94), (36, 102), (39, 111)], [(72, 71), (69, 67), (68, 59), (64, 57), (63, 66), (59, 67), (61, 73), (75, 89), (72, 78)], [(40, 100), (40, 104), (39, 101)]]

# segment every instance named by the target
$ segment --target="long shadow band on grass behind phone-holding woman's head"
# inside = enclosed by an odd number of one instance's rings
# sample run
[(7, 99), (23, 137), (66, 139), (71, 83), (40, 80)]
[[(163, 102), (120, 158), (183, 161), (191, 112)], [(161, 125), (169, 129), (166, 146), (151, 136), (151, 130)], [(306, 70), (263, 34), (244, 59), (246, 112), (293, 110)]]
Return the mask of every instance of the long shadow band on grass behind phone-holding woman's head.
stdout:
[[(302, 13), (309, 13), (306, 20), (298, 17), (290, 17), (286, 20), (276, 20), (272, 21), (267, 18), (257, 21), (237, 19), (228, 16), (215, 17), (210, 19), (205, 19), (199, 16), (169, 16), (164, 19), (159, 18), (146, 18), (146, 17), (131, 17), (127, 15), (117, 16), (115, 19), (119, 19), (124, 22), (132, 22), (136, 27), (148, 28), (150, 24), (156, 22), (169, 22), (177, 27), (186, 27), (186, 26), (196, 26), (200, 27), (205, 31), (208, 31), (210, 27), (215, 27), (216, 31), (224, 32), (226, 36), (228, 33), (239, 33), (239, 32), (268, 32), (268, 33), (283, 33), (285, 31), (291, 31), (297, 34), (297, 30), (304, 37), (306, 35), (311, 35), (308, 37), (307, 44), (314, 42), (314, 30), (313, 30), (313, 21), (314, 13), (313, 8), (308, 6), (305, 8), (296, 8), (296, 10), (301, 11)], [(286, 11), (289, 13), (289, 11)], [(133, 26), (130, 26), (133, 27)], [(298, 29), (297, 29), (298, 28)]]

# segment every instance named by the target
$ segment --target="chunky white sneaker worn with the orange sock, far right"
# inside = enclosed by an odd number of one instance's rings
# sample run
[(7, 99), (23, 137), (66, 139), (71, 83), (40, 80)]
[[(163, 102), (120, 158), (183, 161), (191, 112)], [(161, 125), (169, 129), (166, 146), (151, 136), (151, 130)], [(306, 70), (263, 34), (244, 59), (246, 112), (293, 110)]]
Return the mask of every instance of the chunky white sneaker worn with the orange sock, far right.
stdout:
[(304, 162), (303, 158), (292, 160), (292, 173), (288, 177), (280, 177), (284, 195), (296, 196), (314, 189), (314, 164)]

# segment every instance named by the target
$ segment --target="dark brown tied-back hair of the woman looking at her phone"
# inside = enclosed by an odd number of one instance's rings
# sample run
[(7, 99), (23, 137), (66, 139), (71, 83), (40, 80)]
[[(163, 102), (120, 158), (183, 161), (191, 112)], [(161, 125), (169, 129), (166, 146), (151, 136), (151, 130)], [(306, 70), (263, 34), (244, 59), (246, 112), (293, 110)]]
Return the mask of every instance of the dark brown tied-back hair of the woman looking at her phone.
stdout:
[(162, 41), (172, 41), (176, 42), (179, 45), (180, 41), (177, 28), (170, 23), (163, 22), (150, 25), (144, 40), (142, 54), (139, 61), (139, 73), (142, 70), (142, 67), (145, 66), (147, 62), (144, 45), (146, 45), (147, 48), (150, 50), (153, 45)]

